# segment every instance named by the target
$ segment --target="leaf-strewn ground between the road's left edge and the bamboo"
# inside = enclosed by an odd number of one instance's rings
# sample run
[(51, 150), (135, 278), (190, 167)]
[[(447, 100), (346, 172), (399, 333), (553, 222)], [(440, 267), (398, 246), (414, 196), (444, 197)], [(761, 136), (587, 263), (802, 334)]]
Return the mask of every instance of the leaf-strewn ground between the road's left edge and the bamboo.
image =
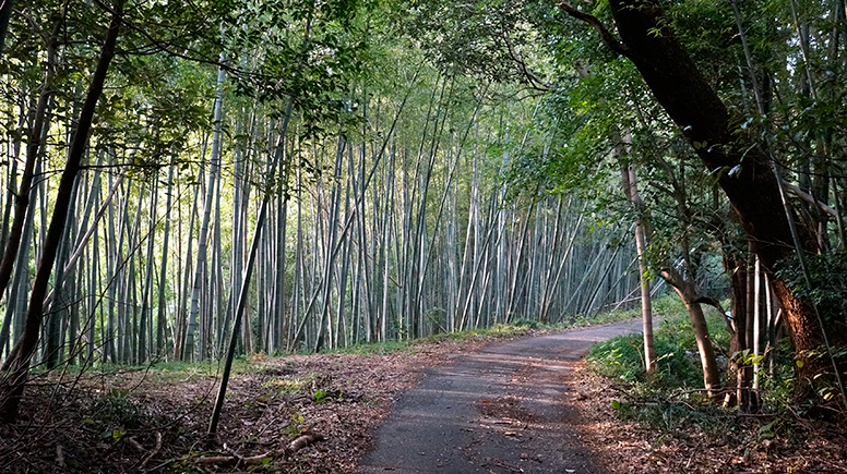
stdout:
[(250, 471), (349, 473), (398, 392), (423, 369), (449, 362), (448, 354), (491, 340), (429, 342), (389, 354), (253, 357), (251, 369), (229, 382), (213, 443), (205, 432), (218, 377), (143, 369), (43, 375), (27, 388), (19, 422), (0, 425), (0, 472), (242, 472), (243, 463), (196, 460), (283, 454), (299, 435), (317, 433), (325, 439)]

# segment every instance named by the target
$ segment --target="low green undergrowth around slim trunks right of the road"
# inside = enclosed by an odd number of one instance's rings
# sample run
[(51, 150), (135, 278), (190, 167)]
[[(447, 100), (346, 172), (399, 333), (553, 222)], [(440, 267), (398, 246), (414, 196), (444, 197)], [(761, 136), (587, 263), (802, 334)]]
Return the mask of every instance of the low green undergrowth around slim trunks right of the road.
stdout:
[[(683, 303), (665, 296), (654, 302), (654, 344), (656, 373), (648, 377), (644, 367), (644, 339), (641, 333), (620, 336), (595, 344), (586, 360), (590, 369), (613, 379), (620, 391), (610, 410), (620, 418), (635, 421), (658, 433), (672, 433), (680, 424), (696, 425), (712, 438), (726, 437), (737, 429), (736, 408), (721, 406), (723, 397), (709, 399), (703, 389), (694, 331)], [(724, 328), (723, 316), (715, 309), (706, 311), (709, 337), (718, 353), (727, 354), (730, 336)], [(761, 367), (762, 408), (761, 427), (752, 436), (771, 436), (776, 424), (768, 424), (788, 408), (791, 390), (791, 358), (787, 342), (773, 349), (774, 363)], [(724, 355), (718, 365), (726, 372)], [(732, 387), (735, 372), (725, 374), (725, 384)], [(796, 410), (796, 409), (795, 409)], [(768, 416), (773, 416), (768, 418)], [(757, 423), (757, 422), (756, 422)], [(756, 425), (757, 426), (757, 425)]]

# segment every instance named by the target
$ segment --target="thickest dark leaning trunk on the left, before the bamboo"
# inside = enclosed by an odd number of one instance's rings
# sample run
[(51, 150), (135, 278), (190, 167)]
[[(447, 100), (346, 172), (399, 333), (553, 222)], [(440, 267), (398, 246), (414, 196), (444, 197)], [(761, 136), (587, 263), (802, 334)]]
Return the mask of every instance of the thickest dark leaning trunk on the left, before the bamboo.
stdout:
[(106, 82), (106, 73), (109, 70), (111, 59), (115, 57), (115, 44), (118, 39), (121, 22), (121, 4), (118, 3), (115, 13), (109, 23), (109, 29), (106, 35), (106, 41), (100, 51), (100, 58), (97, 62), (97, 69), (92, 76), (92, 83), (88, 87), (88, 94), (85, 97), (85, 104), (74, 133), (71, 149), (68, 153), (68, 161), (62, 172), (61, 181), (56, 196), (50, 228), (45, 238), (41, 259), (38, 263), (33, 290), (29, 295), (29, 308), (26, 313), (26, 327), (23, 337), (15, 344), (14, 355), (9, 361), (9, 376), (4, 377), (0, 385), (0, 418), (7, 422), (13, 422), (17, 417), (17, 408), (23, 394), (24, 384), (29, 373), (29, 361), (35, 353), (38, 343), (38, 336), (44, 320), (44, 297), (47, 295), (47, 285), (52, 272), (56, 253), (59, 250), (62, 234), (64, 233), (64, 222), (71, 204), (71, 193), (73, 182), (80, 171), (80, 163), (88, 143), (88, 131), (91, 130), (94, 112), (97, 107), (97, 100), (103, 93), (103, 86)]

